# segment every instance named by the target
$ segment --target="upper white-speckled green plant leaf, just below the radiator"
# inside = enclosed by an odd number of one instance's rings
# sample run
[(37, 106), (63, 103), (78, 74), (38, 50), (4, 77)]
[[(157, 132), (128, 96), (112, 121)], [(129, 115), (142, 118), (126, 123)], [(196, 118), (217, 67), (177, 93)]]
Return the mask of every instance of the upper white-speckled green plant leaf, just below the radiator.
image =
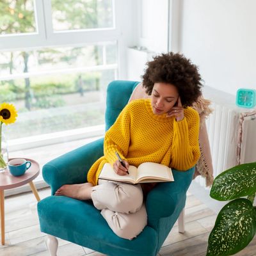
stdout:
[(212, 184), (210, 196), (226, 201), (256, 192), (256, 162), (240, 164), (220, 173)]

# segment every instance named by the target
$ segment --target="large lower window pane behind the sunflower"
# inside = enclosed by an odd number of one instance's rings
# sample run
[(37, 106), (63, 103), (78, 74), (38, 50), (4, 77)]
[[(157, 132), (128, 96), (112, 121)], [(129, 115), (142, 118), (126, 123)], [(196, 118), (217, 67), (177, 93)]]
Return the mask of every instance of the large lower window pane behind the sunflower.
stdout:
[(8, 140), (104, 124), (106, 86), (117, 70), (115, 54), (103, 63), (106, 52), (106, 44), (0, 52), (0, 102), (19, 113)]

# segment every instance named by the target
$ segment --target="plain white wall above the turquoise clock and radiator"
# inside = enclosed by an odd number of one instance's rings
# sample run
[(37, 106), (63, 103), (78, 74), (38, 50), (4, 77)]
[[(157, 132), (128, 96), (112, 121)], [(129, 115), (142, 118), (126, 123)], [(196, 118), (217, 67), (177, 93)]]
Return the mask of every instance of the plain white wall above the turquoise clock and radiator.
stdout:
[(180, 51), (205, 84), (236, 94), (256, 89), (256, 1), (180, 0)]

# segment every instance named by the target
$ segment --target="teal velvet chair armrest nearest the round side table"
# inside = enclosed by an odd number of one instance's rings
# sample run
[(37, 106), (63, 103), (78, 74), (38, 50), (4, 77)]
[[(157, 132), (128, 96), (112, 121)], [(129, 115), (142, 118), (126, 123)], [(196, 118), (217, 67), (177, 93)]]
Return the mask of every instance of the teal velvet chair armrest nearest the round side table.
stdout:
[(92, 164), (103, 156), (103, 140), (100, 138), (83, 147), (76, 148), (44, 165), (45, 182), (51, 186), (52, 195), (64, 184), (83, 183)]

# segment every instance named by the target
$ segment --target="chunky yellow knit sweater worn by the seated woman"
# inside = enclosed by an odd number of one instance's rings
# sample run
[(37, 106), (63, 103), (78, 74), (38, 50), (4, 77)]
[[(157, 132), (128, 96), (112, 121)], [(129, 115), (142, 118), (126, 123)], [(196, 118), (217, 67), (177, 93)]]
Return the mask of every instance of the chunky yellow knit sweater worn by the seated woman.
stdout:
[(97, 185), (103, 165), (117, 160), (115, 151), (137, 167), (154, 162), (188, 170), (200, 157), (198, 134), (199, 115), (194, 109), (184, 109), (184, 119), (177, 122), (173, 116), (155, 115), (151, 99), (133, 100), (106, 132), (104, 156), (90, 168), (88, 182)]

